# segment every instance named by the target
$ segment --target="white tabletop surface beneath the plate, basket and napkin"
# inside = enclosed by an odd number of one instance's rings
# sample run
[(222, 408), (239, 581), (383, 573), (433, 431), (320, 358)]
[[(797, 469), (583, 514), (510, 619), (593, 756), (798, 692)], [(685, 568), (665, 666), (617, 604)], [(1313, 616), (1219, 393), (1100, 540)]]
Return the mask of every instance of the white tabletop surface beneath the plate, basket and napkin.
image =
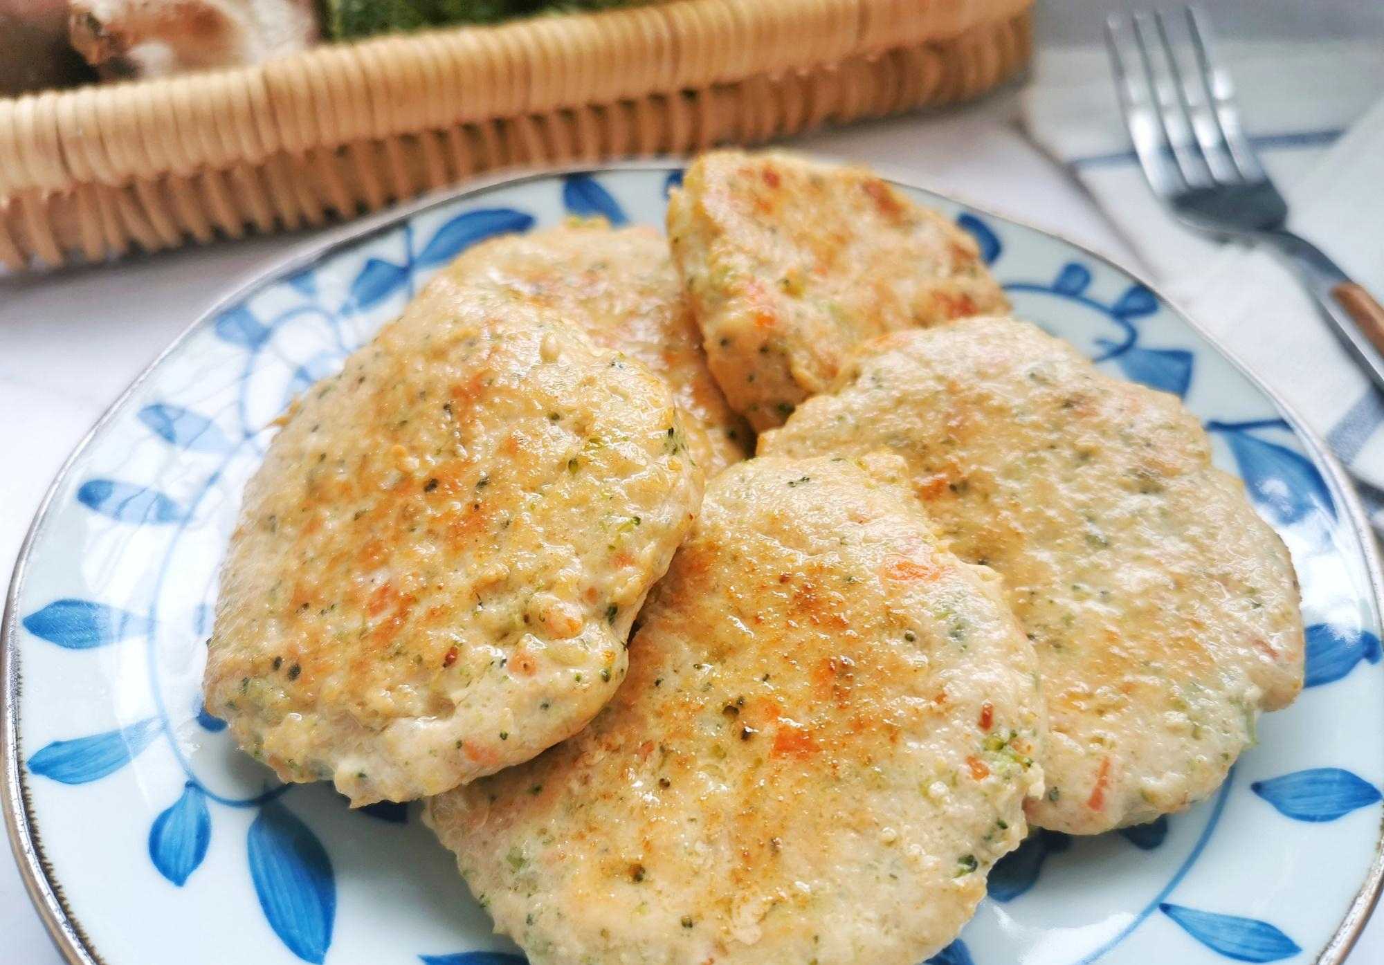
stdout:
[[(1204, 4), (1222, 35), (1378, 36), (1377, 0)], [(1093, 43), (1113, 0), (1039, 0), (1038, 43)], [(1253, 118), (1248, 118), (1253, 130)], [(1140, 268), (1100, 213), (1017, 129), (1005, 91), (981, 104), (799, 138), (1048, 227)], [(46, 278), (0, 278), (0, 578), (60, 465), (134, 376), (219, 293), (304, 235), (188, 249)], [(3, 849), (0, 849), (3, 850)], [(131, 926), (136, 926), (131, 922)], [(0, 857), (0, 964), (58, 965), (12, 861)], [(1384, 925), (1351, 958), (1384, 962)], [(1005, 964), (1008, 965), (1008, 964)]]

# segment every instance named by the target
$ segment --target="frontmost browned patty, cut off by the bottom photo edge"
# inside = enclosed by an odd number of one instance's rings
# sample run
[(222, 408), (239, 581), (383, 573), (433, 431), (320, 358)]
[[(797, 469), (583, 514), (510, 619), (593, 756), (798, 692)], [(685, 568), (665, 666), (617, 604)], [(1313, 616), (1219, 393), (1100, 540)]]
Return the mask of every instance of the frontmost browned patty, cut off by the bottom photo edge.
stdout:
[(1032, 648), (897, 456), (707, 487), (630, 676), (580, 734), (426, 820), (533, 965), (916, 965), (1042, 787)]

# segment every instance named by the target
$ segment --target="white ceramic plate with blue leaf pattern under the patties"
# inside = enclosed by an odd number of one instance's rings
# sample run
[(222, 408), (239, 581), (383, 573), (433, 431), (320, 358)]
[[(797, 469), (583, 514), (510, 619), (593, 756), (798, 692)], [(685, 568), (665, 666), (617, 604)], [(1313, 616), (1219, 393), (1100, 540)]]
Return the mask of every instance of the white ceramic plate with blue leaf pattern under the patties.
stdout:
[[(202, 709), (203, 640), (270, 422), (468, 245), (567, 213), (663, 223), (666, 166), (491, 184), (393, 213), (219, 304), (107, 413), (6, 612), (3, 791), (58, 946), (91, 965), (518, 965), (418, 807), (281, 787)], [(945, 965), (1340, 962), (1380, 885), (1380, 572), (1322, 444), (1156, 292), (1048, 234), (909, 189), (976, 235), (1017, 312), (1181, 395), (1302, 582), (1306, 690), (1212, 799), (1038, 832)], [(866, 964), (862, 964), (866, 965)]]

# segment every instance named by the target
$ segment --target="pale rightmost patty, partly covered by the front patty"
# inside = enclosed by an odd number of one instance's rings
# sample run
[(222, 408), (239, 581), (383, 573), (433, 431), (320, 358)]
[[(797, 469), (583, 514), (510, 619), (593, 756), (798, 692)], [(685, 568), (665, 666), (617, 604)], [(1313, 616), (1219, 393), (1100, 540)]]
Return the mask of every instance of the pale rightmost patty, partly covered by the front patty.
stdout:
[(1028, 322), (861, 347), (760, 452), (889, 448), (963, 560), (1003, 577), (1052, 731), (1034, 824), (1098, 834), (1183, 810), (1302, 686), (1287, 547), (1172, 395)]

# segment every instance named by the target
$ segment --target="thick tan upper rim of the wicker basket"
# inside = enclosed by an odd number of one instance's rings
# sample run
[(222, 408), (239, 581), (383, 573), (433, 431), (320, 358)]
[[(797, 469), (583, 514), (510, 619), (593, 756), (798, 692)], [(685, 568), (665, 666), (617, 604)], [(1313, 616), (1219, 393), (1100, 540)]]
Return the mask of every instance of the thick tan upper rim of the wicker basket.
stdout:
[[(1031, 4), (671, 0), (320, 43), (241, 68), (22, 94), (0, 98), (0, 196), (183, 173), (233, 153), (227, 140), (238, 140), (239, 159), (257, 163), (275, 151), (775, 77), (954, 40)], [(794, 30), (785, 35), (789, 25)], [(659, 64), (659, 55), (671, 64)], [(472, 83), (477, 76), (465, 75), (464, 65), (489, 68), (479, 79), (491, 83)], [(410, 83), (414, 90), (406, 90)], [(437, 93), (444, 102), (410, 95), (419, 93)], [(209, 140), (220, 142), (208, 147)], [(90, 151), (97, 141), (119, 147)], [(111, 170), (91, 177), (90, 169), (102, 166)]]

